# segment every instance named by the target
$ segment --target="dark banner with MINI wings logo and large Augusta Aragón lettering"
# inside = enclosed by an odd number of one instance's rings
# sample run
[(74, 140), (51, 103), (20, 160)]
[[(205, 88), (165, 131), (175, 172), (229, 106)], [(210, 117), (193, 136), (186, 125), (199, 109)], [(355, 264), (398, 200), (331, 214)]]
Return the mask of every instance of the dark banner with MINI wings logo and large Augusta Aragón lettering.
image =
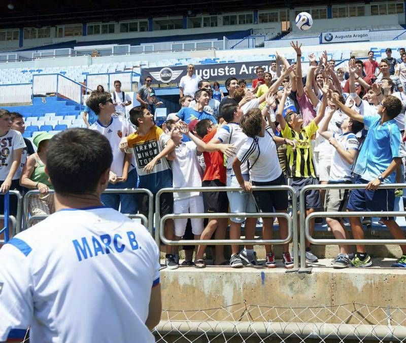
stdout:
[[(271, 60), (239, 63), (217, 63), (195, 65), (195, 73), (204, 80), (226, 80), (230, 77), (237, 79), (256, 79), (256, 67), (263, 67), (264, 71), (270, 70)], [(142, 80), (152, 77), (154, 84), (179, 83), (186, 75), (186, 65), (171, 67), (154, 67), (141, 69)]]

